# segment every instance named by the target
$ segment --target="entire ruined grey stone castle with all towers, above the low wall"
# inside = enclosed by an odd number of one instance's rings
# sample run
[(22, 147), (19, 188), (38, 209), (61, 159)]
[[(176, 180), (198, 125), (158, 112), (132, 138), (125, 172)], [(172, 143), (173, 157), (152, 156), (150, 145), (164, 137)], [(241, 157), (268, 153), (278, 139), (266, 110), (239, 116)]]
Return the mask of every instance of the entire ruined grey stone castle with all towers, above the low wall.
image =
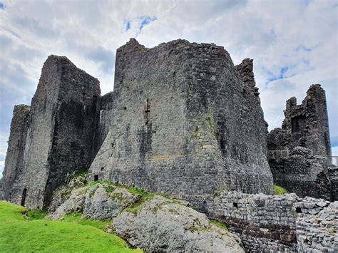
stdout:
[(297, 170), (310, 164), (316, 172), (300, 180), (332, 199), (327, 166), (311, 162), (312, 153), (330, 154), (324, 91), (312, 86), (308, 97), (288, 101), (282, 130), (267, 140), (252, 60), (235, 66), (222, 46), (176, 40), (145, 48), (130, 39), (117, 50), (106, 95), (68, 58), (49, 56), (31, 106), (14, 108), (0, 196), (46, 208), (68, 175), (89, 168), (90, 181), (162, 192), (208, 213), (208, 201), (224, 190), (272, 195), (275, 179), (297, 192), (282, 182), (285, 163), (302, 153), (308, 157)]

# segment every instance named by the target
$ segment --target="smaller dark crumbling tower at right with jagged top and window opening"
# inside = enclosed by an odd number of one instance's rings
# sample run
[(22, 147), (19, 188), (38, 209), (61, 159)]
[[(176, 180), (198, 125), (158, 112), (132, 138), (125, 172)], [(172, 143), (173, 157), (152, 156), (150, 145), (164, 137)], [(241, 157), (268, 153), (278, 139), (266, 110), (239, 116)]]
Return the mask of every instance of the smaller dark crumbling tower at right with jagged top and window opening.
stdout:
[(302, 104), (297, 105), (295, 97), (287, 100), (284, 114), (282, 128), (272, 130), (267, 139), (275, 184), (300, 197), (335, 200), (332, 189), (337, 180), (328, 170), (331, 146), (325, 91), (312, 85)]

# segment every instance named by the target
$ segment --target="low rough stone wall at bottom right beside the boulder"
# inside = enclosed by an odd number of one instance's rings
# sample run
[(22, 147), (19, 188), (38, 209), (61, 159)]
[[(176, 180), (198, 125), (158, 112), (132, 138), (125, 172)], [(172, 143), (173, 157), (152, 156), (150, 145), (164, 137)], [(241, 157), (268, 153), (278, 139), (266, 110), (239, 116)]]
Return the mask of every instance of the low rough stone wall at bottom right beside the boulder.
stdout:
[[(334, 252), (338, 249), (338, 242), (334, 241), (338, 231), (336, 206), (337, 202), (302, 199), (295, 194), (241, 192), (220, 192), (207, 205), (208, 217), (224, 222), (250, 252)], [(322, 225), (314, 222), (318, 215)], [(327, 232), (329, 227), (334, 232)]]

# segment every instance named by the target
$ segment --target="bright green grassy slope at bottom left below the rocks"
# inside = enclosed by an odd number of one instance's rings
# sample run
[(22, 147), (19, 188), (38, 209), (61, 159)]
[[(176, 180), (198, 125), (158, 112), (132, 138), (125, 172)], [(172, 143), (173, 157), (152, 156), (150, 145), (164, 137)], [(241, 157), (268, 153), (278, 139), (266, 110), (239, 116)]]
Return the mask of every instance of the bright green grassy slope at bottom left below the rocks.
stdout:
[(39, 220), (18, 205), (0, 201), (0, 252), (141, 252), (100, 229), (103, 225), (79, 217), (65, 221)]

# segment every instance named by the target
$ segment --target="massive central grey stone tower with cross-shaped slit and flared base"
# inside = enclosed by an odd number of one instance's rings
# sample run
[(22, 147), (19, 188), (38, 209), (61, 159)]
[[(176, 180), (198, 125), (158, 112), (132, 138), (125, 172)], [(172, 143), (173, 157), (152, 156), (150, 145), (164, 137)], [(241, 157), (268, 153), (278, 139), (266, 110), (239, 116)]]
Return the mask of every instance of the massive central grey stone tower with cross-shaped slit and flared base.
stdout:
[(131, 39), (116, 54), (113, 118), (91, 180), (165, 192), (201, 210), (223, 187), (271, 193), (265, 120), (245, 75), (220, 46), (149, 49)]

